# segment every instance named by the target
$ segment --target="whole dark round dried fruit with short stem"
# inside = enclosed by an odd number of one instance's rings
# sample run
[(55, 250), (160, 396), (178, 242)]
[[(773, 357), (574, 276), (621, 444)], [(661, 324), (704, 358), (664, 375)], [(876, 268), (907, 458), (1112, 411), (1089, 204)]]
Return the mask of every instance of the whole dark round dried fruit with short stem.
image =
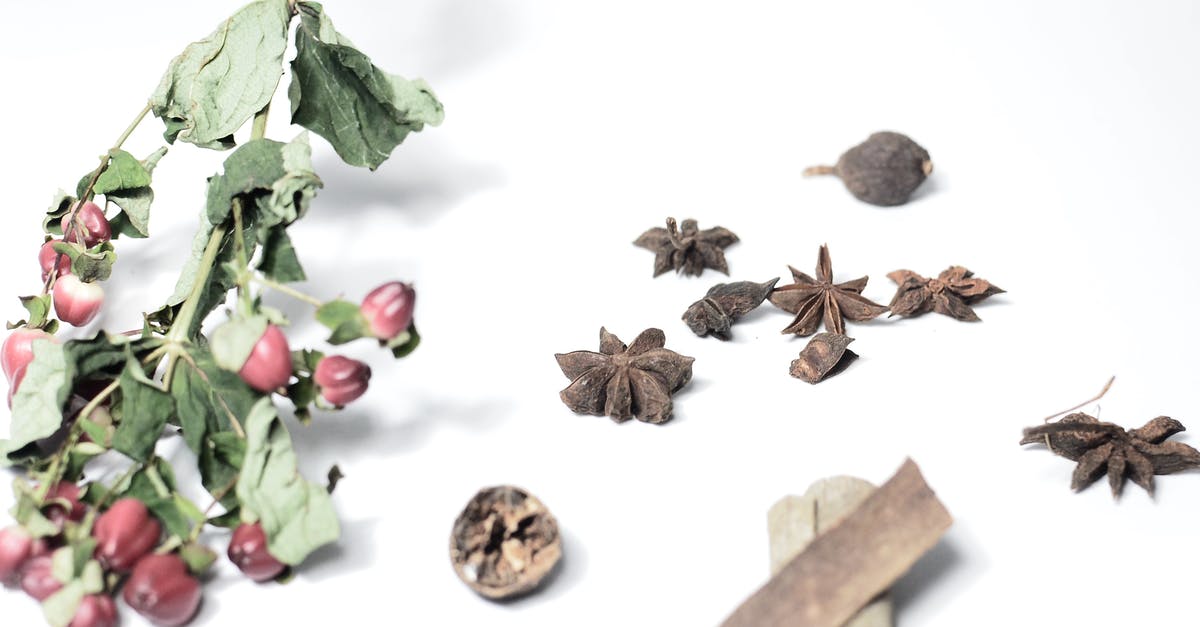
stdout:
[(833, 174), (864, 203), (894, 207), (908, 202), (912, 192), (932, 174), (929, 153), (907, 136), (882, 131), (842, 153), (836, 166), (814, 166), (805, 177)]

